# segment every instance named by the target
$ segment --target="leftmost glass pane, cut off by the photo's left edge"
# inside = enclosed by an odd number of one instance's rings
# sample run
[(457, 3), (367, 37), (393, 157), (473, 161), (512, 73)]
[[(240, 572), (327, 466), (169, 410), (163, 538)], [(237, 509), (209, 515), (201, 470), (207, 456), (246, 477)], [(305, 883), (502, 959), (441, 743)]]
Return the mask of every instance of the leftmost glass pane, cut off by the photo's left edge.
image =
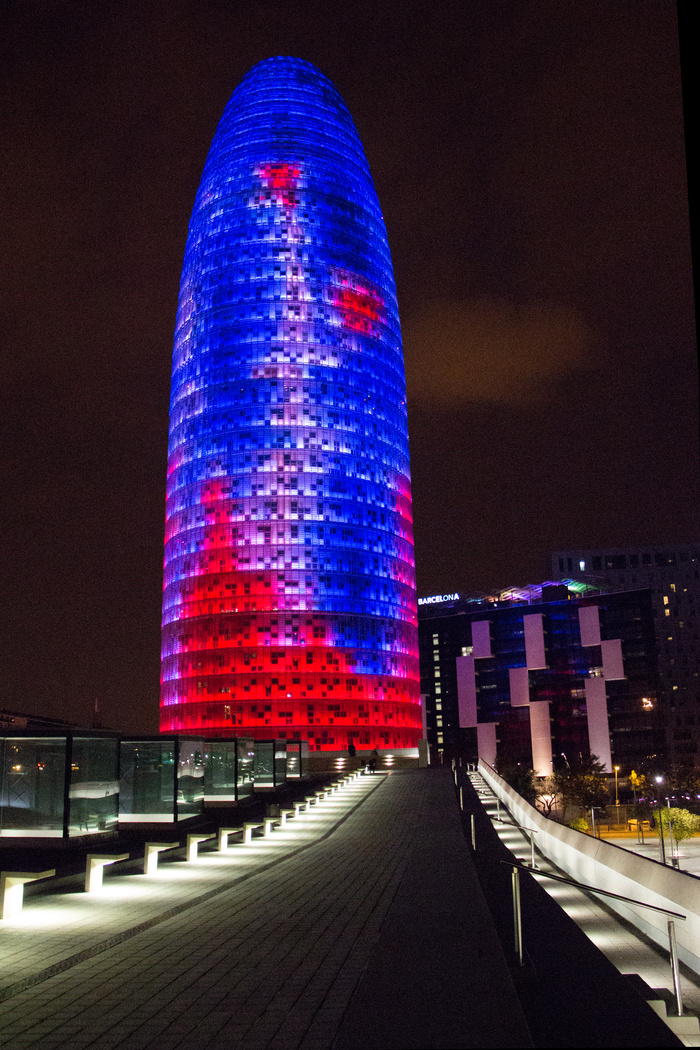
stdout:
[(0, 737), (0, 836), (62, 838), (66, 738)]

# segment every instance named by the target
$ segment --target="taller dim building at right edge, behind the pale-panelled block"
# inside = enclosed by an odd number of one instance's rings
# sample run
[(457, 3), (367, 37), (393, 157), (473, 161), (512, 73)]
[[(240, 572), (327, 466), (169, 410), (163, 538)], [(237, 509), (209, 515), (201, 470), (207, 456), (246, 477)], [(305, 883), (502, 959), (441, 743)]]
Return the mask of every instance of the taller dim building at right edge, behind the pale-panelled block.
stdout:
[(666, 756), (700, 764), (700, 542), (557, 550), (552, 570), (604, 591), (650, 589)]

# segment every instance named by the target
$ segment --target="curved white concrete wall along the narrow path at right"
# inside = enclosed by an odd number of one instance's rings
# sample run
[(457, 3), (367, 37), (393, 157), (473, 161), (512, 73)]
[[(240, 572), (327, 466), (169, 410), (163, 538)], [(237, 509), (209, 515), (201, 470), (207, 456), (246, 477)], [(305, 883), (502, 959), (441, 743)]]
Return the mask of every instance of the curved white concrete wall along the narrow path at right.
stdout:
[[(537, 849), (572, 879), (686, 916), (684, 922), (676, 920), (678, 954), (700, 973), (700, 880), (548, 820), (490, 765), (480, 762), (479, 771), (518, 824), (537, 828)], [(667, 916), (611, 897), (600, 899), (667, 951)]]

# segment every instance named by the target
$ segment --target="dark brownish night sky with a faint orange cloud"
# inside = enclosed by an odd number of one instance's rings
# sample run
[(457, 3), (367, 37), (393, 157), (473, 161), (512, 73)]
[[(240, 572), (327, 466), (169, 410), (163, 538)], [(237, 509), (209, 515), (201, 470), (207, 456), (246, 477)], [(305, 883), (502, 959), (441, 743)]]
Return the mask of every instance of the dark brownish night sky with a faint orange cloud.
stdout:
[(157, 726), (170, 358), (217, 121), (357, 124), (404, 330), (419, 594), (700, 536), (675, 4), (5, 0), (0, 708)]

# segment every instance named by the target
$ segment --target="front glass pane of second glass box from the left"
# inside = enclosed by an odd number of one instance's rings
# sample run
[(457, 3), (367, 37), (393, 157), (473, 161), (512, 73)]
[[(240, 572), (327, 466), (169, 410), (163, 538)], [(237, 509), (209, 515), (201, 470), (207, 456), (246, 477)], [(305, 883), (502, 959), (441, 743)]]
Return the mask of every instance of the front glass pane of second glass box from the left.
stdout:
[(119, 819), (175, 820), (175, 740), (122, 740)]

